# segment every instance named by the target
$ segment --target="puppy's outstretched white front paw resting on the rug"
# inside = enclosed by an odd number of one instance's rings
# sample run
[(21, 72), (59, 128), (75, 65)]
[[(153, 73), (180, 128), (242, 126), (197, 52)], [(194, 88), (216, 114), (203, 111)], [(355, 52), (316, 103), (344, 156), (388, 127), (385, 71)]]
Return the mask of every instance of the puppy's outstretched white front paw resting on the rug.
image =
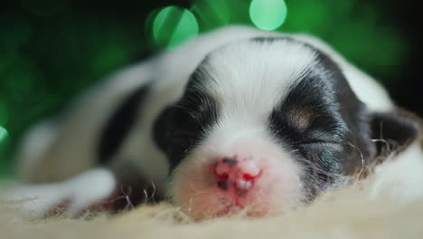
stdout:
[(25, 216), (78, 215), (92, 206), (105, 205), (116, 188), (115, 177), (107, 169), (92, 169), (77, 177), (54, 184), (18, 186), (1, 196), (9, 207)]

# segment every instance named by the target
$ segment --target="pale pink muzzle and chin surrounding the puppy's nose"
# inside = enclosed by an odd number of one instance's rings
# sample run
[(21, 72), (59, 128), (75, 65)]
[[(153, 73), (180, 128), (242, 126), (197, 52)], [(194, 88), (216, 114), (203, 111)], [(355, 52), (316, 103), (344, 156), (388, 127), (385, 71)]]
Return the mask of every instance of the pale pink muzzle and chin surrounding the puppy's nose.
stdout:
[(230, 152), (240, 158), (240, 164), (248, 160), (259, 168), (259, 176), (247, 182), (247, 189), (236, 177), (222, 186), (216, 176), (216, 157), (197, 150), (183, 159), (171, 177), (167, 196), (175, 206), (202, 220), (235, 214), (276, 215), (304, 201), (303, 170), (276, 145), (240, 143)]

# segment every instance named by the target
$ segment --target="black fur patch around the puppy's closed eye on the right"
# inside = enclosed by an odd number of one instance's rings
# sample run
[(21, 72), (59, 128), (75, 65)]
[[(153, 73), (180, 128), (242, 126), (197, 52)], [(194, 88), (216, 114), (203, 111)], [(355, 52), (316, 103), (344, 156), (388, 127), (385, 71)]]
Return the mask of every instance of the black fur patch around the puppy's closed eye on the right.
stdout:
[(362, 115), (362, 103), (343, 73), (324, 53), (310, 48), (315, 51), (316, 63), (296, 79), (268, 118), (269, 132), (295, 151), (293, 156), (308, 172), (302, 178), (308, 199), (334, 177), (348, 174), (349, 164), (360, 164), (361, 158), (345, 144), (357, 143), (357, 129), (362, 128), (362, 119), (357, 119)]

